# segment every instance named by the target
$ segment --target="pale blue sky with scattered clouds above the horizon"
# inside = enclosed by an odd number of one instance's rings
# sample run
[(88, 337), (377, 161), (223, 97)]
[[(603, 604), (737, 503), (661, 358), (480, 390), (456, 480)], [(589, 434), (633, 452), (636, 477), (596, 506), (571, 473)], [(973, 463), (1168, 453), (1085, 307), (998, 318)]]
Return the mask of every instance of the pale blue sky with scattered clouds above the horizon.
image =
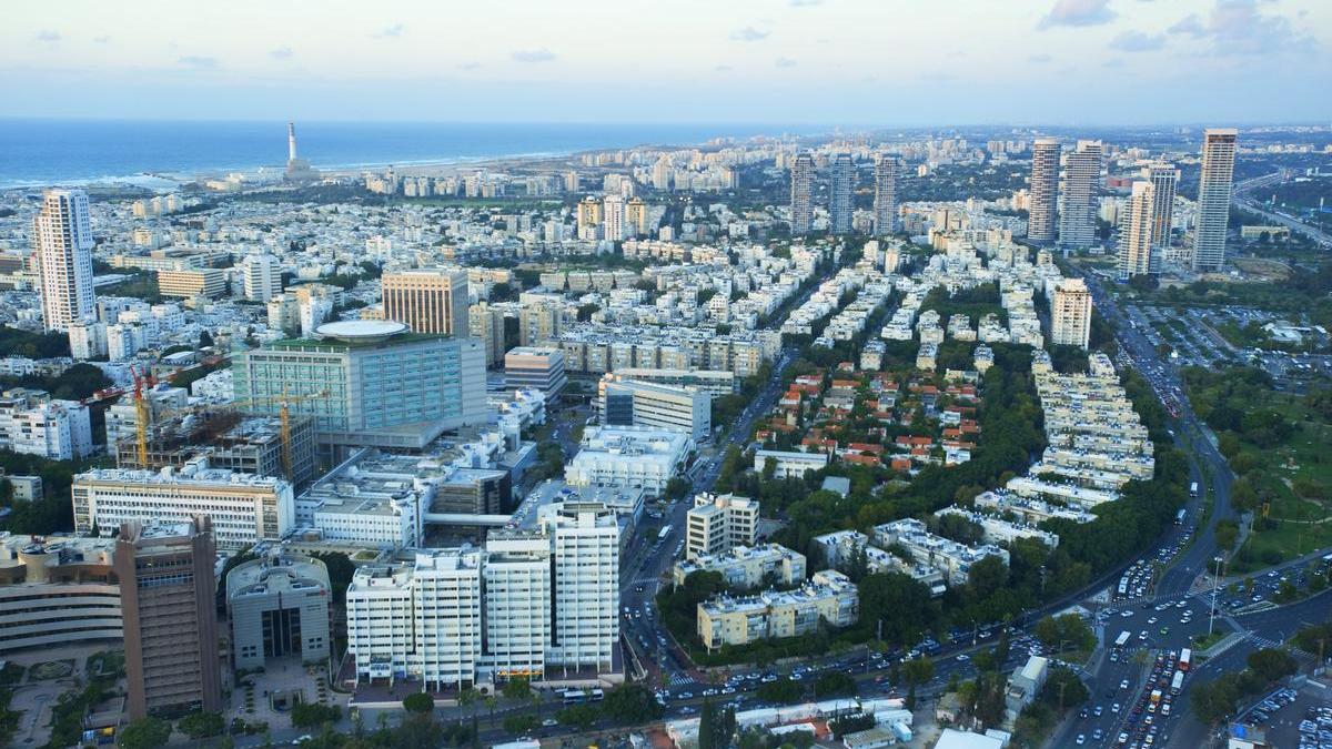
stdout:
[(61, 0), (0, 116), (1325, 124), (1329, 45), (1329, 0)]

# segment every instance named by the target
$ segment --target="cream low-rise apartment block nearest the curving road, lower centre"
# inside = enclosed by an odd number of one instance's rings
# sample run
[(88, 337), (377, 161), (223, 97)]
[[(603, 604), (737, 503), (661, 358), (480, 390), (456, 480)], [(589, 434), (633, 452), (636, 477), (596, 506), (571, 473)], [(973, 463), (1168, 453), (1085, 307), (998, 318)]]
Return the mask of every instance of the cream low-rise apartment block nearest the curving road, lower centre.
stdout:
[(723, 645), (810, 634), (821, 622), (851, 626), (859, 616), (855, 584), (840, 572), (826, 569), (795, 590), (719, 596), (698, 604), (698, 637), (711, 652)]

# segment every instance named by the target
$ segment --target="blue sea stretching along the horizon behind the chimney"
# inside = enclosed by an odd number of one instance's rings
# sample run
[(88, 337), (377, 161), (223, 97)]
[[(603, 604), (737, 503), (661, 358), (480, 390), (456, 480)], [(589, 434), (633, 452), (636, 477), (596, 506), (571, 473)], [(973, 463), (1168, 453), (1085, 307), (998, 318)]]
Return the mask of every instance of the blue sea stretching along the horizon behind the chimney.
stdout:
[[(296, 123), (317, 168), (562, 155), (593, 148), (693, 145), (714, 137), (811, 133), (771, 125), (539, 123)], [(282, 165), (285, 121), (0, 119), (0, 188)]]

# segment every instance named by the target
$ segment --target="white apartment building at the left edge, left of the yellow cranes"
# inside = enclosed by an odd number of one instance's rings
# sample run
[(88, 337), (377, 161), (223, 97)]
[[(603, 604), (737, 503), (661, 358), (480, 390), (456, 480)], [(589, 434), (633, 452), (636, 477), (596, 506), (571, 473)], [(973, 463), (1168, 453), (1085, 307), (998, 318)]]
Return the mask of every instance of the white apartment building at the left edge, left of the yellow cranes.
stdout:
[(92, 454), (88, 406), (52, 400), (45, 390), (13, 388), (0, 396), (0, 448), (51, 460)]

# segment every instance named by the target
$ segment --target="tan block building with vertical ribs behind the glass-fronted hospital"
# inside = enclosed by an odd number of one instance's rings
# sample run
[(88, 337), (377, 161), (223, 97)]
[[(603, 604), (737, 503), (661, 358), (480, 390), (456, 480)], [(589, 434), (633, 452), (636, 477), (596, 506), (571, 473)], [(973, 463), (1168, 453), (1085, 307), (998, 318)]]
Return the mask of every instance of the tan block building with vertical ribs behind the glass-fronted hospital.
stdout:
[(414, 333), (466, 335), (468, 272), (462, 268), (397, 271), (380, 281), (385, 320), (404, 323)]

